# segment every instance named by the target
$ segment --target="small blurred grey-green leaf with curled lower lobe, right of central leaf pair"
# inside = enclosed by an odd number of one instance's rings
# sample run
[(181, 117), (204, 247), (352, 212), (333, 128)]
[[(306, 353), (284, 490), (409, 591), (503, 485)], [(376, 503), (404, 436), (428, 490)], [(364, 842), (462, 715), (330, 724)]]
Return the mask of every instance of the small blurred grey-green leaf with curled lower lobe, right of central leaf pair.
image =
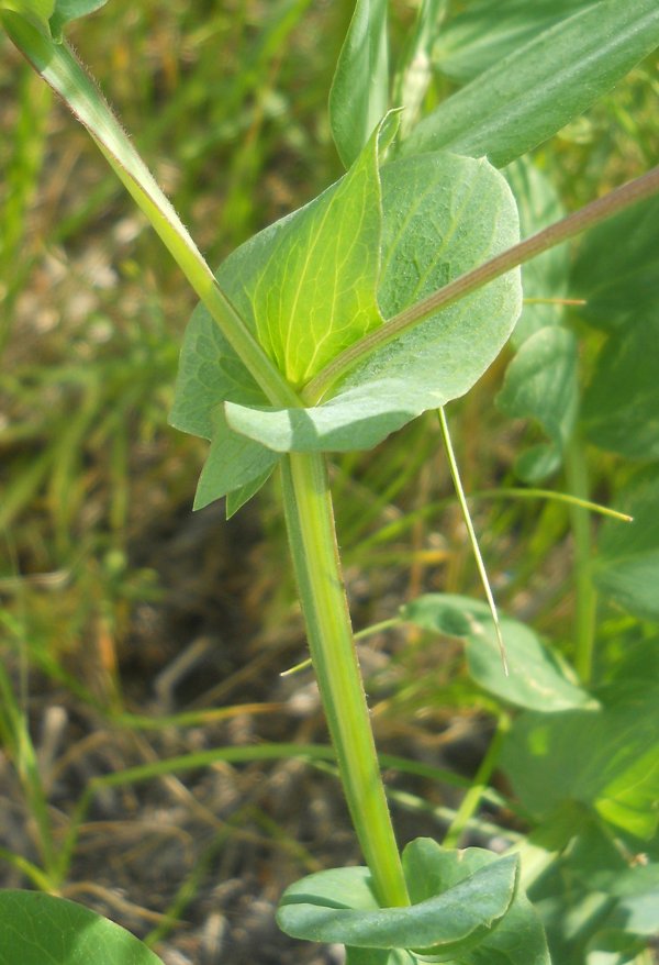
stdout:
[(511, 419), (533, 419), (549, 436), (517, 456), (515, 472), (537, 482), (561, 464), (579, 404), (578, 344), (558, 325), (540, 329), (524, 342), (509, 365), (496, 404)]

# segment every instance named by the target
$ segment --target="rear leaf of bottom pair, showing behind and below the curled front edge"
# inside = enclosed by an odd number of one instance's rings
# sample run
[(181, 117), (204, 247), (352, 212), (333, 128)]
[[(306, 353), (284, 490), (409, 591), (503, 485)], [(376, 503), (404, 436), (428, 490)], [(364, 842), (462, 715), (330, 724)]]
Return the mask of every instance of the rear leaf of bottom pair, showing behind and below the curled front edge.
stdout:
[[(449, 851), (428, 838), (417, 838), (403, 852), (410, 897), (423, 900), (438, 888), (456, 887), (467, 875), (498, 861), (481, 847)], [(476, 947), (459, 953), (455, 965), (550, 965), (543, 925), (520, 888), (496, 927)]]

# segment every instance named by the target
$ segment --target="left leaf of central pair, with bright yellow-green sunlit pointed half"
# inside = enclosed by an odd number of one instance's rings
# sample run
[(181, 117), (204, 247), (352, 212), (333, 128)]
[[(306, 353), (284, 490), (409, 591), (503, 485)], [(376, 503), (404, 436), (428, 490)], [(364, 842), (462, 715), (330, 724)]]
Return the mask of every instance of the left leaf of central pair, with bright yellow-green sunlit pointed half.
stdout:
[[(389, 125), (382, 141), (391, 134)], [(223, 289), (291, 381), (310, 377), (346, 340), (381, 324), (378, 136), (340, 181), (242, 245), (217, 271)], [(177, 429), (213, 440), (197, 508), (238, 489), (247, 499), (277, 462), (263, 445), (232, 432), (217, 411), (226, 401), (258, 406), (266, 399), (200, 306), (186, 332), (170, 413)]]

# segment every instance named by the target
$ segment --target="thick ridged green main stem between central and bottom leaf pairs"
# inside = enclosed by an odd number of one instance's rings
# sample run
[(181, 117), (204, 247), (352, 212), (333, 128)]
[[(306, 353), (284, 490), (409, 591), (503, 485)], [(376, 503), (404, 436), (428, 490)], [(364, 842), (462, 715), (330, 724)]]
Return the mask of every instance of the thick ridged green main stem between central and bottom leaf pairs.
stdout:
[(382, 907), (409, 905), (353, 642), (325, 458), (282, 463), (289, 543), (344, 792)]

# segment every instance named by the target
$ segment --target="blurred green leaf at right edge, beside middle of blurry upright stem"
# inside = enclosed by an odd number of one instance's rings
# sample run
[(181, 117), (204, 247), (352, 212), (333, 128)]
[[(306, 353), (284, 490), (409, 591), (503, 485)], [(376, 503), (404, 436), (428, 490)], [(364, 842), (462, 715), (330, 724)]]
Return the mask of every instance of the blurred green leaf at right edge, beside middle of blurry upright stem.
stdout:
[(659, 468), (639, 473), (616, 499), (632, 523), (606, 521), (594, 579), (599, 589), (646, 620), (659, 620)]

